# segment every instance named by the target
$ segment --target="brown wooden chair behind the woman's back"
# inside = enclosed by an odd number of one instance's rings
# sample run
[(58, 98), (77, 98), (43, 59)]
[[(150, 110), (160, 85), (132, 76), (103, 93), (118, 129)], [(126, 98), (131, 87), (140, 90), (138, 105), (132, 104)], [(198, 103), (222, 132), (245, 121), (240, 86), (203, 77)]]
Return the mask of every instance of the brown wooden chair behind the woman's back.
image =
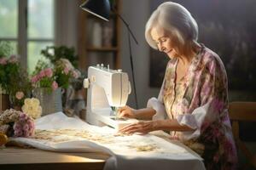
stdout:
[[(256, 122), (256, 102), (231, 102), (229, 113), (237, 150), (241, 150), (241, 153), (247, 158), (247, 163), (243, 168), (249, 166), (256, 168), (256, 154), (247, 149), (246, 144), (241, 141), (239, 136), (239, 122)], [(251, 133), (256, 135), (256, 132)]]

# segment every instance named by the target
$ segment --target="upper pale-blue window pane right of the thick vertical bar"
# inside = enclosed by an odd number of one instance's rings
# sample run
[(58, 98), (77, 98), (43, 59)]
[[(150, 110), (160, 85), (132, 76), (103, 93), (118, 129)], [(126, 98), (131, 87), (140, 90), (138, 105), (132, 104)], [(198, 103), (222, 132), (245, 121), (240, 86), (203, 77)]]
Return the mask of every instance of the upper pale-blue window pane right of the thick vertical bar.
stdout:
[(28, 1), (28, 38), (54, 37), (54, 0)]

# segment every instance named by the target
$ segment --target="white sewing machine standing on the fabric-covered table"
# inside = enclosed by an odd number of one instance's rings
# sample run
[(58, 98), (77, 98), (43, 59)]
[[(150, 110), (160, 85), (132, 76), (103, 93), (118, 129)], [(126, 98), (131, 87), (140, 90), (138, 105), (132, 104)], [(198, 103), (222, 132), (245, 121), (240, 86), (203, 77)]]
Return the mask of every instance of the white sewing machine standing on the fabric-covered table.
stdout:
[(90, 66), (88, 78), (84, 79), (87, 90), (86, 122), (96, 126), (111, 126), (116, 129), (137, 122), (136, 119), (119, 119), (113, 108), (126, 105), (131, 85), (128, 75), (122, 70), (111, 70), (104, 65)]

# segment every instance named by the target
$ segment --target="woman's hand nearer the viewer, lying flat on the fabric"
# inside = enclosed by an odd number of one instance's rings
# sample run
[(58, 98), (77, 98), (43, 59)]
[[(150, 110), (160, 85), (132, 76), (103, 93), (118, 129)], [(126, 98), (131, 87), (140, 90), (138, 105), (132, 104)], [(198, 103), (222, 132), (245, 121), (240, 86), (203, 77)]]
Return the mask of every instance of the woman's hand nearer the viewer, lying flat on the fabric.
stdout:
[(141, 121), (127, 125), (119, 130), (119, 133), (149, 133), (157, 130), (157, 122), (155, 121)]

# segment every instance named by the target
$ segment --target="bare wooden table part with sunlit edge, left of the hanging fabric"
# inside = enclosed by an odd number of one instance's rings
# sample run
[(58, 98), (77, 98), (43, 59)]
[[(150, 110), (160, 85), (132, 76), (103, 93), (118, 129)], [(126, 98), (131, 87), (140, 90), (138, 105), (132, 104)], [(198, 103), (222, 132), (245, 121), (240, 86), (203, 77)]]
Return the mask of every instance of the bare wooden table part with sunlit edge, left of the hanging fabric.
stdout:
[(63, 153), (7, 147), (0, 149), (0, 169), (79, 170), (103, 169), (105, 153)]

